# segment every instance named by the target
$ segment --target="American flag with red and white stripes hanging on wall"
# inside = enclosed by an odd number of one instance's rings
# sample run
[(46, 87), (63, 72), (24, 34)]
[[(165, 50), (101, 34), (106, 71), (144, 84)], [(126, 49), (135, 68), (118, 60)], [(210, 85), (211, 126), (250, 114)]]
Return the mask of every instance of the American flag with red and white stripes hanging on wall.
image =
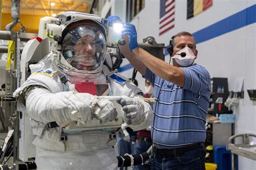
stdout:
[(160, 1), (159, 36), (174, 28), (175, 0)]

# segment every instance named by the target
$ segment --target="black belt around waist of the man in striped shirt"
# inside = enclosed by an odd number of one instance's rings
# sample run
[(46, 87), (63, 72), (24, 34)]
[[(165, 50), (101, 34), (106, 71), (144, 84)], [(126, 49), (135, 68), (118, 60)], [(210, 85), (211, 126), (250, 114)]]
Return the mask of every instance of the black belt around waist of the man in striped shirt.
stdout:
[(194, 143), (184, 147), (173, 148), (173, 149), (158, 149), (156, 147), (153, 147), (153, 151), (154, 153), (156, 153), (156, 155), (160, 154), (162, 157), (169, 158), (169, 157), (173, 157), (174, 155), (182, 155), (187, 151), (191, 151), (193, 149), (199, 148), (202, 146), (201, 144), (202, 142), (198, 142), (198, 143)]

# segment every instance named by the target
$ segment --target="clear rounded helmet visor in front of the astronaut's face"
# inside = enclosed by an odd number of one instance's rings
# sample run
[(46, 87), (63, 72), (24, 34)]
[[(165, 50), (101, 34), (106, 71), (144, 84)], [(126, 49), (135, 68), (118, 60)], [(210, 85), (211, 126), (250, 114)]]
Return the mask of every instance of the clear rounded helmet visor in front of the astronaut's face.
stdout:
[(78, 25), (65, 35), (62, 54), (75, 69), (93, 71), (104, 62), (105, 44), (96, 26)]

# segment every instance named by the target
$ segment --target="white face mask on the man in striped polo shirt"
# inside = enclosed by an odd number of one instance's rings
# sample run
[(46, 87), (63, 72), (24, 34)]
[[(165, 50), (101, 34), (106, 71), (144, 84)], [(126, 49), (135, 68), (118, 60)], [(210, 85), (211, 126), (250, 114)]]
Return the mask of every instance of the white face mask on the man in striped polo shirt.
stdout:
[(196, 56), (194, 56), (194, 52), (189, 48), (189, 47), (185, 47), (179, 51), (177, 51), (177, 54), (180, 54), (181, 52), (185, 52), (186, 56), (185, 57), (181, 57), (180, 55), (174, 55), (172, 58), (175, 59), (175, 61), (180, 65), (180, 66), (190, 66), (191, 64), (193, 64), (194, 62), (194, 58), (196, 58)]

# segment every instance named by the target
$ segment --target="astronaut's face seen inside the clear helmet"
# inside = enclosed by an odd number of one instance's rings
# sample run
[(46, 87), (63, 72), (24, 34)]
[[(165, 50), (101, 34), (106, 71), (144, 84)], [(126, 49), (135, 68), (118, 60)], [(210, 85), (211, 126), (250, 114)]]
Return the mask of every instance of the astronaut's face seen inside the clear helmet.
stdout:
[(95, 38), (86, 35), (80, 38), (75, 46), (77, 69), (90, 70), (97, 63)]

